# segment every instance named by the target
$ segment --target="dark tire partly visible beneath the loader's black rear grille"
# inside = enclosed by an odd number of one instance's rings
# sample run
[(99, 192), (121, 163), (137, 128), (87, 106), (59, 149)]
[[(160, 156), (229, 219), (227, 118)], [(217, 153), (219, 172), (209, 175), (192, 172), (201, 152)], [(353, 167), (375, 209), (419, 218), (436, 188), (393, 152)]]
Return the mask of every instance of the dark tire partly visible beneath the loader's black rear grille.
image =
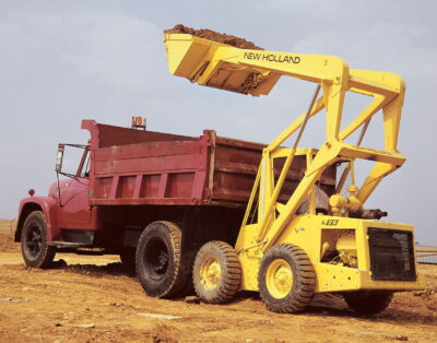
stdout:
[(376, 315), (383, 311), (393, 298), (392, 292), (353, 292), (344, 293), (349, 307), (359, 315)]

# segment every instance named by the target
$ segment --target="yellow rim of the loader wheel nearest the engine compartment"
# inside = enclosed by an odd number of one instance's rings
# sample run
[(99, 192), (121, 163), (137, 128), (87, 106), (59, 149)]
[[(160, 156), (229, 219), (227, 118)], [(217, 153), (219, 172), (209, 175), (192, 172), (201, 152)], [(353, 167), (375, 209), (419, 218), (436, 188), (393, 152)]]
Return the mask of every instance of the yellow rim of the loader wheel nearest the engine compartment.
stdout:
[(265, 285), (270, 295), (276, 299), (285, 298), (293, 287), (293, 270), (287, 261), (274, 260), (265, 274)]

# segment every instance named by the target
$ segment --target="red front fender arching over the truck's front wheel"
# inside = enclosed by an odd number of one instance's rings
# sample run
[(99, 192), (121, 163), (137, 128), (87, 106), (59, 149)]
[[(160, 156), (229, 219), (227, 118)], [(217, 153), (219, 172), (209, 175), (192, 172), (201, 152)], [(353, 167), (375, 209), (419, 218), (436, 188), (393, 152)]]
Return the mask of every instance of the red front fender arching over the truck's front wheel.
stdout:
[(42, 211), (46, 217), (48, 243), (51, 244), (52, 237), (56, 237), (59, 232), (57, 223), (58, 206), (58, 201), (50, 197), (28, 197), (23, 199), (20, 202), (19, 220), (14, 233), (14, 241), (21, 241), (21, 233), (27, 216), (33, 211)]

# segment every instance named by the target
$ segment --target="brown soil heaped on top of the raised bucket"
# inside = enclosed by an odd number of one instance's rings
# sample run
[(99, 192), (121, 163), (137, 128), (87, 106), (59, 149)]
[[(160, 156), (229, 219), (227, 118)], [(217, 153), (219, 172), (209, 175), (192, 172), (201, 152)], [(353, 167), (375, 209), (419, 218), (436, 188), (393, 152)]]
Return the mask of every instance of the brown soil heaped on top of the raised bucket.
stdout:
[(227, 44), (236, 48), (240, 49), (252, 49), (252, 50), (263, 50), (256, 46), (252, 42), (246, 40), (245, 38), (239, 38), (232, 35), (221, 34), (215, 31), (202, 28), (202, 29), (193, 29), (191, 27), (184, 26), (182, 24), (178, 24), (173, 28), (165, 29), (165, 34), (189, 34), (199, 38), (204, 38), (213, 42), (218, 42), (222, 44)]

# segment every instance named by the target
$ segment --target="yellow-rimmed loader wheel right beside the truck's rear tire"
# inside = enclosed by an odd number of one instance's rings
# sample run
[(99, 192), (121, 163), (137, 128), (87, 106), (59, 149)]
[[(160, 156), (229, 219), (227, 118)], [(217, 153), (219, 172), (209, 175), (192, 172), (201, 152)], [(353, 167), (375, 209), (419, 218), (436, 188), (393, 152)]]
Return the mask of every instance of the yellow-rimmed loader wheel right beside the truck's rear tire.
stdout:
[(241, 264), (227, 243), (213, 240), (196, 256), (192, 281), (196, 294), (208, 304), (231, 301), (241, 280)]

